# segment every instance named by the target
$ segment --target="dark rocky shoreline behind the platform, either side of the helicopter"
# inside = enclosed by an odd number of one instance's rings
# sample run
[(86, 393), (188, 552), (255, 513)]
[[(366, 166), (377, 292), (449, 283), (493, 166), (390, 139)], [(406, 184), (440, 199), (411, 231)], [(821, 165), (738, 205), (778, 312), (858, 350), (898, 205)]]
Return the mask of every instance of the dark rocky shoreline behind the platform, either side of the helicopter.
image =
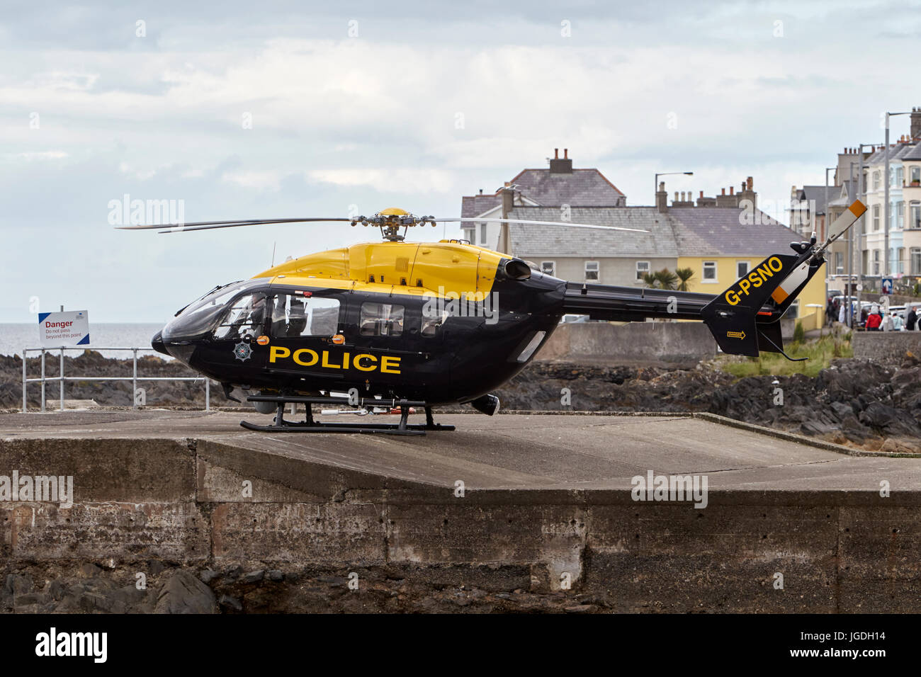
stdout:
[[(30, 358), (29, 377), (41, 374)], [(47, 358), (45, 373), (57, 375), (58, 360)], [(98, 353), (66, 357), (64, 373), (81, 376), (131, 376), (130, 359)], [(175, 360), (138, 359), (139, 376), (195, 376)], [(22, 361), (0, 356), (0, 409), (22, 405)], [(204, 407), (204, 381), (141, 381), (147, 406)], [(56, 382), (46, 397), (56, 403)], [(41, 402), (41, 386), (29, 384), (29, 406)], [(857, 359), (836, 359), (816, 378), (804, 375), (737, 379), (716, 363), (694, 369), (590, 367), (534, 362), (497, 392), (503, 410), (709, 412), (740, 421), (818, 437), (858, 449), (921, 452), (921, 364), (906, 356), (901, 367)], [(129, 406), (130, 381), (69, 381), (66, 400), (92, 400), (100, 406)], [(227, 402), (212, 388), (212, 405)]]

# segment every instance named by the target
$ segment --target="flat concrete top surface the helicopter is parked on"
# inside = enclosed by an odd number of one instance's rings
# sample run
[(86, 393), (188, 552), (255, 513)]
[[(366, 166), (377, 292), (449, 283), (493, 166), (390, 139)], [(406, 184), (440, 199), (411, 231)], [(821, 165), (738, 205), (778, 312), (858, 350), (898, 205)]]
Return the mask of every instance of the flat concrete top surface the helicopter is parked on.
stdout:
[(875, 491), (885, 478), (921, 490), (921, 459), (848, 455), (717, 417), (453, 414), (437, 420), (457, 430), (410, 438), (251, 432), (242, 418), (267, 419), (166, 410), (6, 414), (0, 438), (194, 438), (381, 478), (448, 486), (462, 478), (479, 489), (624, 489), (652, 470), (705, 473), (711, 490)]

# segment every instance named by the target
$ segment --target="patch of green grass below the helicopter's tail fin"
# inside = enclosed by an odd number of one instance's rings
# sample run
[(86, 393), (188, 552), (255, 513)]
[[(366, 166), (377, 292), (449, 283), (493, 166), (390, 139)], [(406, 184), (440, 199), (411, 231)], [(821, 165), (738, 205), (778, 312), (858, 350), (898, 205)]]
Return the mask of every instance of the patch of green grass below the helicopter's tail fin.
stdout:
[(791, 357), (807, 357), (805, 362), (790, 362), (779, 353), (762, 353), (759, 357), (719, 356), (717, 368), (738, 379), (746, 376), (790, 376), (806, 374), (815, 377), (837, 357), (853, 357), (851, 335), (822, 336), (821, 339), (797, 342), (785, 346)]

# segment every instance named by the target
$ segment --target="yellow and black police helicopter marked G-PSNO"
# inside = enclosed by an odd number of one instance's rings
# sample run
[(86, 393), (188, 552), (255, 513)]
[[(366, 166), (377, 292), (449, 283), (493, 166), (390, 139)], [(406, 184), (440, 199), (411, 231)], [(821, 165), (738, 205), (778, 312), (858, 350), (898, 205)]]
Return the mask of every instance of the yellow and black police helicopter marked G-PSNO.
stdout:
[[(718, 295), (566, 282), (466, 240), (405, 241), (410, 227), (446, 221), (610, 229), (588, 224), (442, 219), (387, 209), (356, 218), (122, 228), (175, 233), (321, 221), (379, 227), (383, 242), (308, 254), (216, 286), (180, 309), (152, 345), (219, 381), (229, 399), (239, 402), (233, 392), (240, 389), (251, 393), (247, 400), (258, 412), (274, 412), (271, 426), (241, 422), (252, 430), (423, 435), (454, 429), (435, 424), (435, 405), (470, 403), (495, 414), (499, 402), (491, 392), (530, 362), (566, 313), (607, 321), (704, 321), (725, 353), (783, 354), (780, 317), (824, 263), (825, 249), (864, 211), (855, 202), (829, 230), (837, 235), (821, 246), (814, 235), (792, 242), (794, 254), (769, 256)], [(287, 403), (305, 404), (306, 420), (286, 421)], [(364, 412), (399, 409), (400, 423), (318, 422), (315, 403)], [(425, 409), (426, 424), (408, 423), (414, 407)]]

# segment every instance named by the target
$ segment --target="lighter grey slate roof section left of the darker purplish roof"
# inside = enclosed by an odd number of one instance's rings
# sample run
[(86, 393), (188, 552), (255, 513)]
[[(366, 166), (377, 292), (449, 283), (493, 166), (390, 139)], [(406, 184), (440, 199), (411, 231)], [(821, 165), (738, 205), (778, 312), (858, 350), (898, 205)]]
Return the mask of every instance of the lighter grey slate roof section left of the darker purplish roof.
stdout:
[[(558, 207), (516, 207), (512, 218), (559, 221)], [(512, 251), (518, 256), (676, 258), (678, 248), (670, 219), (655, 207), (572, 207), (573, 223), (642, 228), (647, 233), (565, 226), (509, 224)]]

